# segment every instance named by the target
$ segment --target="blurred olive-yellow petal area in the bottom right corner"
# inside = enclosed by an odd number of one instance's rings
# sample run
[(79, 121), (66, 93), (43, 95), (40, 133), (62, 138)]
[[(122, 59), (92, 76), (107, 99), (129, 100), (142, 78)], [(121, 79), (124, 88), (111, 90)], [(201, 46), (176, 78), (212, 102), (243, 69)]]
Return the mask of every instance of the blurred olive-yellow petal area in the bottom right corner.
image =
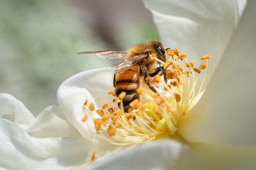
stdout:
[(189, 144), (173, 170), (255, 169), (256, 148), (223, 147), (203, 143)]

